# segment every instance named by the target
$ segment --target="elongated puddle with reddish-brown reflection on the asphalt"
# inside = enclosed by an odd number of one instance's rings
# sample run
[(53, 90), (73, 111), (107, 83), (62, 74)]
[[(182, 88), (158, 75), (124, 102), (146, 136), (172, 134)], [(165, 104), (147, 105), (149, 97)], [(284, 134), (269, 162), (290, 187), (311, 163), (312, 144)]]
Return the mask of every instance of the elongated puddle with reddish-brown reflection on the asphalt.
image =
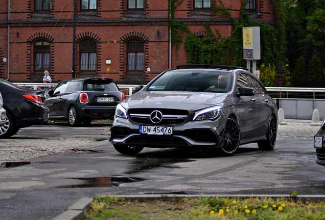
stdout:
[(56, 188), (113, 187), (113, 186), (119, 186), (122, 183), (139, 182), (144, 180), (141, 178), (129, 178), (129, 177), (93, 177), (93, 178), (85, 177), (85, 178), (69, 178), (69, 179), (83, 180), (85, 181), (85, 183), (58, 186)]

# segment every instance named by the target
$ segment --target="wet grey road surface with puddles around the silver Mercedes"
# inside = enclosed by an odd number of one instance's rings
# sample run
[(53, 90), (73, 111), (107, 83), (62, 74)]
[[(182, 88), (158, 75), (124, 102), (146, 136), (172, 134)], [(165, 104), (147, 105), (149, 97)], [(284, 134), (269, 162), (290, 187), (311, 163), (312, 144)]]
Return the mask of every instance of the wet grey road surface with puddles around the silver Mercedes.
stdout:
[(97, 195), (289, 196), (296, 190), (322, 197), (325, 167), (315, 163), (316, 130), (307, 123), (280, 125), (274, 150), (248, 144), (234, 156), (220, 157), (179, 149), (144, 149), (125, 156), (108, 143), (108, 123), (24, 128), (0, 142), (6, 152), (0, 161), (8, 162), (4, 157), (13, 149), (12, 154), (24, 157), (15, 159), (17, 165), (30, 162), (0, 169), (0, 216), (53, 219)]

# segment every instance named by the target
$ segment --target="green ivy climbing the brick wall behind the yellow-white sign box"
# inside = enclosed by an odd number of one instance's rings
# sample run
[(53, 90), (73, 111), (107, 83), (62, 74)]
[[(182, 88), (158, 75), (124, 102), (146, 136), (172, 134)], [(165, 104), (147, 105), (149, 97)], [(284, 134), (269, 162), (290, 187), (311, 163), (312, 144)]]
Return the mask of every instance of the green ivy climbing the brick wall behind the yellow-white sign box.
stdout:
[(246, 66), (243, 59), (242, 28), (247, 26), (260, 26), (261, 36), (261, 61), (260, 65), (278, 66), (285, 62), (286, 40), (285, 40), (285, 23), (286, 17), (283, 0), (272, 0), (275, 12), (276, 26), (262, 22), (249, 20), (245, 14), (245, 0), (242, 1), (240, 9), (240, 19), (231, 17), (231, 14), (225, 9), (221, 0), (218, 4), (212, 6), (215, 15), (229, 17), (233, 20), (234, 31), (230, 38), (221, 38), (217, 29), (211, 30), (211, 25), (206, 23), (204, 28), (206, 36), (195, 36), (189, 28), (181, 23), (174, 21), (174, 13), (182, 3), (182, 0), (170, 1), (170, 27), (172, 31), (172, 43), (178, 50), (184, 33), (187, 37), (184, 41), (184, 48), (187, 52), (190, 64), (219, 64), (232, 66)]

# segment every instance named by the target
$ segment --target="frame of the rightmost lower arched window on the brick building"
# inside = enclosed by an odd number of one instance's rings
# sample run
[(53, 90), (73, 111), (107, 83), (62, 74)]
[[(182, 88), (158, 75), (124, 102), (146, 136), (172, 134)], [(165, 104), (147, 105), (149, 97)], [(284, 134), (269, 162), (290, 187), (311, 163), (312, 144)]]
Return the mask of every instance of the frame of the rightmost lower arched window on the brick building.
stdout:
[[(134, 48), (130, 49), (130, 44), (134, 42)], [(139, 45), (139, 43), (142, 44), (142, 48), (136, 48), (137, 45)], [(134, 53), (134, 55), (132, 57), (130, 57), (130, 53)], [(138, 61), (139, 56), (141, 56), (142, 53), (142, 61), (141, 63), (139, 63), (140, 61)], [(132, 64), (130, 64), (130, 60), (131, 58), (133, 58), (133, 62)], [(138, 38), (133, 38), (131, 40), (129, 40), (128, 42), (126, 42), (126, 68), (128, 72), (143, 72), (145, 70), (145, 41), (142, 39), (138, 39)], [(130, 68), (132, 65), (132, 67), (134, 68)], [(141, 67), (141, 69), (138, 69), (139, 67)]]

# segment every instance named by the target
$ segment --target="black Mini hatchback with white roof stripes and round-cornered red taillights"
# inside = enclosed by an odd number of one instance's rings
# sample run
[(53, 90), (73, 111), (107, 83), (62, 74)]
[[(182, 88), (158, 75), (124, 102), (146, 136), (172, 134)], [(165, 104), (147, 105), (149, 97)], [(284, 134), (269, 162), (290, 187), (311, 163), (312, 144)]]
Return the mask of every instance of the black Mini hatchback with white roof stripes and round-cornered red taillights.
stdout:
[(92, 119), (113, 119), (116, 105), (126, 96), (111, 78), (62, 80), (49, 91), (49, 120), (68, 120), (72, 126), (89, 125)]

